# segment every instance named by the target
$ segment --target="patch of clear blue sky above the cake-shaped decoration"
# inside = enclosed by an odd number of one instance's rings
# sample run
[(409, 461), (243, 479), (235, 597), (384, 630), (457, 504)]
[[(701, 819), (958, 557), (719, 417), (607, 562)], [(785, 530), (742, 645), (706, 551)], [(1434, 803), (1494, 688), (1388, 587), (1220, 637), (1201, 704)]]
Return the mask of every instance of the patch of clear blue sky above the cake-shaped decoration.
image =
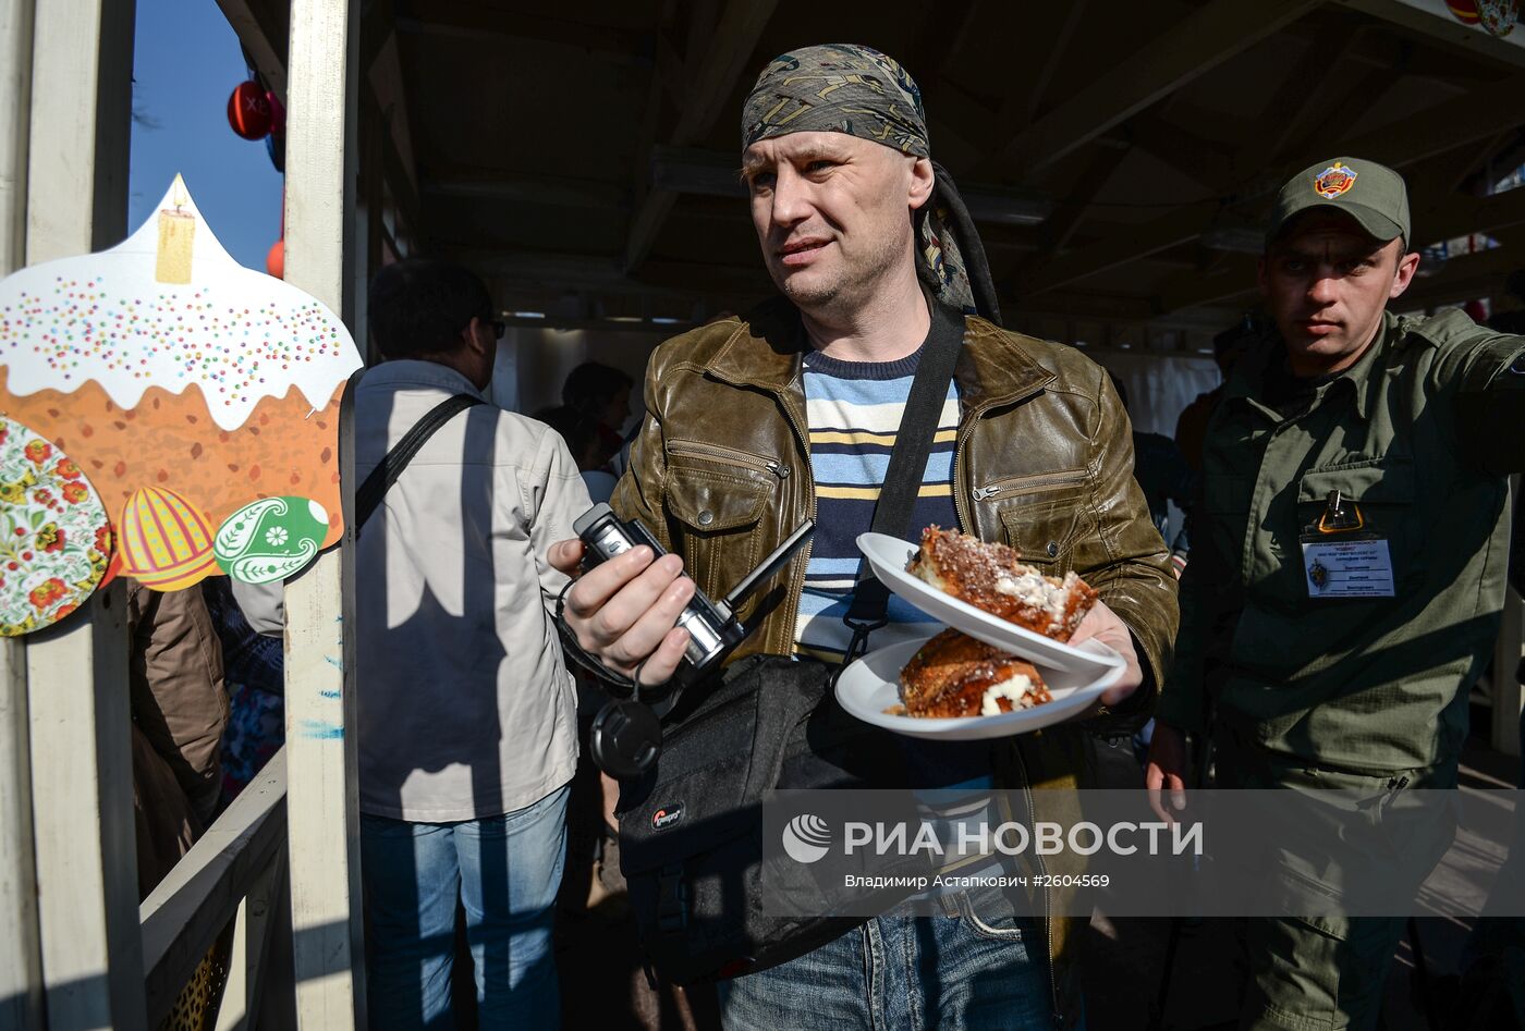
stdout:
[(227, 96), (247, 76), (217, 0), (137, 0), (128, 232), (180, 172), (227, 253), (264, 271), (281, 236), (282, 178), (264, 140), (227, 125)]

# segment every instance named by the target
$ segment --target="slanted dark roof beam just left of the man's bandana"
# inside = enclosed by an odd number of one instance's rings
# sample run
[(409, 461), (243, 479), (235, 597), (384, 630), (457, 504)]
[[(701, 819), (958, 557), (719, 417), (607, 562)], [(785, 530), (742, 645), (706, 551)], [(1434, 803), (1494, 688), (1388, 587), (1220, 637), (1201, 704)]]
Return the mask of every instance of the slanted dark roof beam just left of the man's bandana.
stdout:
[[(686, 102), (679, 108), (668, 143), (691, 146), (711, 130), (741, 76), (753, 72), (752, 52), (776, 6), (778, 0), (727, 0), (709, 44), (688, 55)], [(627, 271), (637, 268), (651, 253), (676, 200), (677, 195), (665, 189), (647, 192), (625, 239)]]

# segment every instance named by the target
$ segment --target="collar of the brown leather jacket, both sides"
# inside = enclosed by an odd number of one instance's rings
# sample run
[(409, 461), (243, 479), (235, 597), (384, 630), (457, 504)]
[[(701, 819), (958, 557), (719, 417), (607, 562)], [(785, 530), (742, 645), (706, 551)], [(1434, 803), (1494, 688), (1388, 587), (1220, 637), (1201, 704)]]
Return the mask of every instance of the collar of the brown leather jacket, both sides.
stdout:
[[(1019, 340), (978, 316), (964, 320), (964, 348), (953, 378), (965, 410), (1020, 401), (1054, 381), (1054, 374), (1034, 361)], [(784, 393), (799, 389), (808, 346), (799, 311), (775, 297), (735, 326), (705, 371), (734, 386)]]

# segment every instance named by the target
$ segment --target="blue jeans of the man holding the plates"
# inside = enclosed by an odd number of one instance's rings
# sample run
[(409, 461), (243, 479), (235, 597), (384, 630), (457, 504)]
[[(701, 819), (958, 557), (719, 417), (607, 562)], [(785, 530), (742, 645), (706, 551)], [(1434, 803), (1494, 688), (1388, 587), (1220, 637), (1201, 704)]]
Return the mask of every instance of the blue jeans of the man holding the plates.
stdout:
[(947, 897), (944, 912), (904, 904), (820, 949), (720, 982), (726, 1031), (1051, 1031), (1054, 1000), (1037, 923), (999, 889)]

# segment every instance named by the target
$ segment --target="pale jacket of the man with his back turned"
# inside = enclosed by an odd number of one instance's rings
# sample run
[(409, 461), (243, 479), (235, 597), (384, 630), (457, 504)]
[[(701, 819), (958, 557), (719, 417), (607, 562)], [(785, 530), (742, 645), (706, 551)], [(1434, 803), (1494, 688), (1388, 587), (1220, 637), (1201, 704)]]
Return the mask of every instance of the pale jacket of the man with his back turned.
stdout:
[[(355, 393), (355, 477), (453, 393), (454, 369), (387, 361)], [(546, 561), (587, 488), (543, 422), (479, 404), (429, 438), (355, 543), (360, 811), (500, 816), (572, 779), (576, 694)], [(294, 727), (294, 734), (305, 732)]]

